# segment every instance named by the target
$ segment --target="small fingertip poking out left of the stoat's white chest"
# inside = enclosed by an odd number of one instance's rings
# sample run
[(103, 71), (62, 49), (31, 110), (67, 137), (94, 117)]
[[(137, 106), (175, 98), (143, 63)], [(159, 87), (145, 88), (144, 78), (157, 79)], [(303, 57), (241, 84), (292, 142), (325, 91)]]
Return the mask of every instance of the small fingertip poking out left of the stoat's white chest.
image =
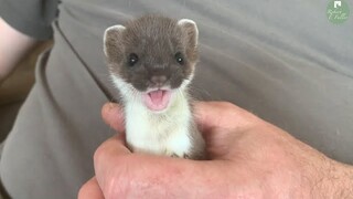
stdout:
[(107, 103), (101, 108), (101, 117), (106, 124), (117, 132), (125, 130), (124, 112), (116, 103)]

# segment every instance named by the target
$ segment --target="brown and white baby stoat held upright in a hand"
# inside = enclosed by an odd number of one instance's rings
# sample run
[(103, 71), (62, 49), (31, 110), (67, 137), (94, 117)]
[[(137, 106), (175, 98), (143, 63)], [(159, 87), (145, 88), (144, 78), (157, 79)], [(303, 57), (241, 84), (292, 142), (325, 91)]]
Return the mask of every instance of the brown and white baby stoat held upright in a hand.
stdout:
[(105, 31), (104, 52), (119, 90), (132, 151), (205, 158), (188, 85), (197, 62), (196, 23), (143, 15)]

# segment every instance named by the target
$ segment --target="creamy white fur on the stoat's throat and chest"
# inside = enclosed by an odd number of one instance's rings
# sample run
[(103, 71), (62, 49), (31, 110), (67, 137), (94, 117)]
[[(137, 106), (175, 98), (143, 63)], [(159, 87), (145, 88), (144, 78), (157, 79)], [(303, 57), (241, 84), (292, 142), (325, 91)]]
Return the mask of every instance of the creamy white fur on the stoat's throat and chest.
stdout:
[(125, 101), (126, 139), (133, 151), (184, 157), (192, 147), (192, 114), (184, 93), (173, 92), (162, 113), (148, 109), (129, 84), (113, 76)]

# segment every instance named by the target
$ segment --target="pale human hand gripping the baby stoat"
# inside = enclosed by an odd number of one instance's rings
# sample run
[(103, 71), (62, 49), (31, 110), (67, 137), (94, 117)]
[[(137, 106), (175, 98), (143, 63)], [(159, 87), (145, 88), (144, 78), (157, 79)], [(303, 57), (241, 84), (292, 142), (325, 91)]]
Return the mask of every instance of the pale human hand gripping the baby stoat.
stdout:
[(282, 129), (229, 103), (199, 102), (195, 117), (210, 160), (131, 154), (122, 113), (106, 104), (117, 136), (94, 156), (95, 177), (81, 199), (99, 198), (349, 198), (353, 167), (328, 158)]

